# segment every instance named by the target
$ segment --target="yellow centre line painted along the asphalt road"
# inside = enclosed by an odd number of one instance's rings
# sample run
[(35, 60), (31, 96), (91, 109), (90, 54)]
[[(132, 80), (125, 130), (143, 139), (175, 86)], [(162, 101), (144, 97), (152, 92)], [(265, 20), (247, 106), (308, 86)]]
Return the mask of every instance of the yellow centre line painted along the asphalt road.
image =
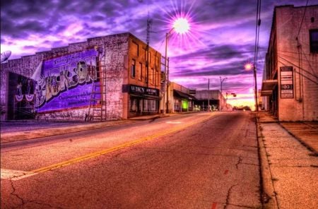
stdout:
[(30, 171), (30, 172), (33, 172), (33, 173), (47, 172), (47, 171), (52, 170), (52, 169), (57, 169), (59, 167), (65, 167), (66, 165), (72, 165), (72, 164), (74, 164), (76, 162), (81, 162), (81, 161), (84, 161), (84, 160), (88, 160), (88, 159), (93, 158), (93, 157), (98, 157), (100, 155), (105, 155), (107, 153), (112, 153), (112, 152), (114, 152), (116, 150), (121, 150), (123, 148), (130, 147), (131, 145), (136, 145), (138, 143), (142, 143), (143, 141), (150, 141), (150, 140), (153, 140), (154, 138), (158, 138), (160, 136), (165, 136), (167, 134), (174, 133), (174, 132), (180, 131), (182, 129), (186, 129), (189, 126), (193, 126), (194, 124), (199, 124), (200, 122), (206, 121), (206, 120), (210, 119), (212, 116), (213, 115), (209, 115), (205, 119), (199, 119), (197, 121), (193, 121), (190, 124), (186, 124), (186, 125), (182, 125), (182, 126), (176, 126), (173, 129), (168, 129), (166, 131), (161, 131), (159, 133), (155, 133), (155, 134), (153, 134), (151, 136), (145, 136), (143, 138), (139, 138), (136, 141), (131, 141), (131, 142), (128, 142), (128, 143), (124, 143), (124, 144), (118, 145), (118, 146), (113, 147), (113, 148), (108, 148), (106, 150), (100, 150), (100, 151), (97, 151), (95, 153), (90, 153), (88, 155), (82, 155), (80, 157), (73, 158), (71, 160), (66, 160), (64, 162), (59, 162), (59, 163), (55, 163), (55, 164), (52, 164), (52, 165), (49, 165), (49, 166), (46, 166), (46, 167), (41, 167), (39, 169), (34, 169), (34, 170)]

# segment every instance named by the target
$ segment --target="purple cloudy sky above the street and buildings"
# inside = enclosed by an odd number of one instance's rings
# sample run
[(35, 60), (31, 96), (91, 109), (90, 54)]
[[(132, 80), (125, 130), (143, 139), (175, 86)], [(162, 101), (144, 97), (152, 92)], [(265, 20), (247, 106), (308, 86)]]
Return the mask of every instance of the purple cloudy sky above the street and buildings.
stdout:
[[(305, 6), (304, 0), (261, 2), (257, 82), (261, 88), (264, 56), (274, 6)], [(309, 4), (314, 2), (309, 1)], [(254, 61), (257, 0), (17, 0), (1, 1), (1, 52), (11, 59), (83, 42), (88, 37), (131, 32), (146, 42), (146, 23), (153, 20), (152, 47), (165, 54), (165, 33), (177, 17), (187, 17), (186, 35), (170, 36), (170, 80), (187, 88), (235, 92), (234, 105), (254, 101), (254, 78), (244, 65)]]

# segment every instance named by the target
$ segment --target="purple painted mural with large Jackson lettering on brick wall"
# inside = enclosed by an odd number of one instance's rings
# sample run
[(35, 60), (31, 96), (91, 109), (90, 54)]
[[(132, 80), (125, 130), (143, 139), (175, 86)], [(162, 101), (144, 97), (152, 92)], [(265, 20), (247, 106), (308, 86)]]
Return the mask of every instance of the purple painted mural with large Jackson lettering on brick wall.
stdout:
[(90, 49), (44, 61), (40, 76), (33, 76), (37, 112), (88, 106), (93, 82), (99, 83), (96, 57), (95, 49)]

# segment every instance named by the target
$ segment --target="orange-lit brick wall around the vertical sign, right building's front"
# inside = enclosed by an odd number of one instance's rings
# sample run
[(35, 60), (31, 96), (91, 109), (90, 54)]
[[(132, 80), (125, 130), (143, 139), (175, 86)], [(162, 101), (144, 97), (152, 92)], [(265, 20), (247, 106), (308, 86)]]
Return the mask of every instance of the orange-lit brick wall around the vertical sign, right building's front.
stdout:
[[(280, 121), (317, 121), (318, 54), (310, 52), (310, 29), (318, 29), (318, 6), (276, 8), (278, 50), (278, 119)], [(314, 18), (314, 21), (312, 21)], [(298, 35), (298, 31), (299, 35)], [(296, 37), (298, 35), (298, 40)], [(281, 98), (281, 66), (293, 67), (294, 97)]]

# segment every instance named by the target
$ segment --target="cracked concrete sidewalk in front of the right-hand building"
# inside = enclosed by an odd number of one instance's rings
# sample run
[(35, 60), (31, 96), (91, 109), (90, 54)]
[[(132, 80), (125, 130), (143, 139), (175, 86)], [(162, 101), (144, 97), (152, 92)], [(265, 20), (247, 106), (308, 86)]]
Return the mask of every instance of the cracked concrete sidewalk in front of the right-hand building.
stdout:
[(317, 208), (316, 123), (304, 129), (307, 124), (279, 123), (265, 112), (257, 119), (265, 208)]

